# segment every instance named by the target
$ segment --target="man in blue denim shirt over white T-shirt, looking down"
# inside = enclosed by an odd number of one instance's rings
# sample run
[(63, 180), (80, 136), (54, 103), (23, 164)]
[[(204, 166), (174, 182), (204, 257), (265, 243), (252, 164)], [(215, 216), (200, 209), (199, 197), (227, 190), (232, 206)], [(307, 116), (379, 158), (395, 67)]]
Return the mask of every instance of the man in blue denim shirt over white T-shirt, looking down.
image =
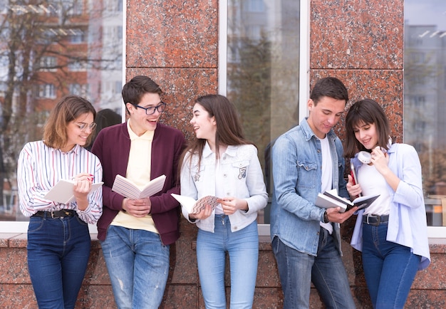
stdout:
[(357, 207), (341, 213), (340, 207), (323, 209), (314, 204), (319, 192), (330, 189), (349, 198), (343, 147), (332, 129), (347, 101), (341, 80), (318, 80), (307, 103), (309, 116), (273, 147), (271, 239), (284, 308), (309, 308), (311, 282), (327, 308), (355, 308), (341, 259), (339, 224)]

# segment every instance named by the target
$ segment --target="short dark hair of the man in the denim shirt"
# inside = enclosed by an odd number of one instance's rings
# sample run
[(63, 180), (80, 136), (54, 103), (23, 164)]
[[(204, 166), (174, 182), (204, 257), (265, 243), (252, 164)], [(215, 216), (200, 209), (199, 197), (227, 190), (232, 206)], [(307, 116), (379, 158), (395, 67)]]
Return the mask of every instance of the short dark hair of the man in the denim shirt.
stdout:
[(310, 98), (313, 100), (314, 105), (317, 105), (319, 100), (323, 97), (333, 98), (337, 100), (348, 101), (348, 91), (346, 85), (341, 80), (333, 77), (321, 78), (314, 85), (311, 90)]

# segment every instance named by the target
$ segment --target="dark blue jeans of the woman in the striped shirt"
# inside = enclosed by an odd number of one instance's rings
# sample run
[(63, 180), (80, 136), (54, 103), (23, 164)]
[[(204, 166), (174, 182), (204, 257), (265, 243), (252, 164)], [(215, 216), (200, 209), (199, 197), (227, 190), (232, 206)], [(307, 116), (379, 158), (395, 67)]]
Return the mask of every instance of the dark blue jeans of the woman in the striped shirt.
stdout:
[(38, 308), (74, 308), (90, 256), (88, 225), (78, 216), (31, 216), (28, 270)]

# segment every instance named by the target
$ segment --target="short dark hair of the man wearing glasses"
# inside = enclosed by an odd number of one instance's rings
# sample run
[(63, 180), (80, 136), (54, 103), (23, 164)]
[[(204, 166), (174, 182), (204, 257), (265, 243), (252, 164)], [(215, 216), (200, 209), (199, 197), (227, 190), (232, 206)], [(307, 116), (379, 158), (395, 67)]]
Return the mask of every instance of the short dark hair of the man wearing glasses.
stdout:
[[(151, 78), (144, 75), (135, 76), (123, 87), (122, 95), (124, 105), (127, 103), (132, 105), (140, 104), (142, 96), (146, 93), (157, 93), (161, 95), (162, 90)], [(127, 108), (125, 110), (128, 112)]]

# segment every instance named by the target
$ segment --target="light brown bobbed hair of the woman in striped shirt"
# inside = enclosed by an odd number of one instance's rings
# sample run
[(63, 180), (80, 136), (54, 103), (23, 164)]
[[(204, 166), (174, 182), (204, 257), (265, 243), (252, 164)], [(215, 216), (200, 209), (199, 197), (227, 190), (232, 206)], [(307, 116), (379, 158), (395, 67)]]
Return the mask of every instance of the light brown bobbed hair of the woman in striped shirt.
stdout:
[[(46, 146), (61, 149), (68, 142), (67, 126), (68, 123), (81, 115), (93, 114), (93, 120), (96, 117), (96, 110), (88, 100), (78, 95), (67, 95), (56, 104), (51, 110), (46, 125), (43, 129), (43, 142)], [(88, 146), (93, 138), (93, 132), (88, 135), (84, 146)]]

